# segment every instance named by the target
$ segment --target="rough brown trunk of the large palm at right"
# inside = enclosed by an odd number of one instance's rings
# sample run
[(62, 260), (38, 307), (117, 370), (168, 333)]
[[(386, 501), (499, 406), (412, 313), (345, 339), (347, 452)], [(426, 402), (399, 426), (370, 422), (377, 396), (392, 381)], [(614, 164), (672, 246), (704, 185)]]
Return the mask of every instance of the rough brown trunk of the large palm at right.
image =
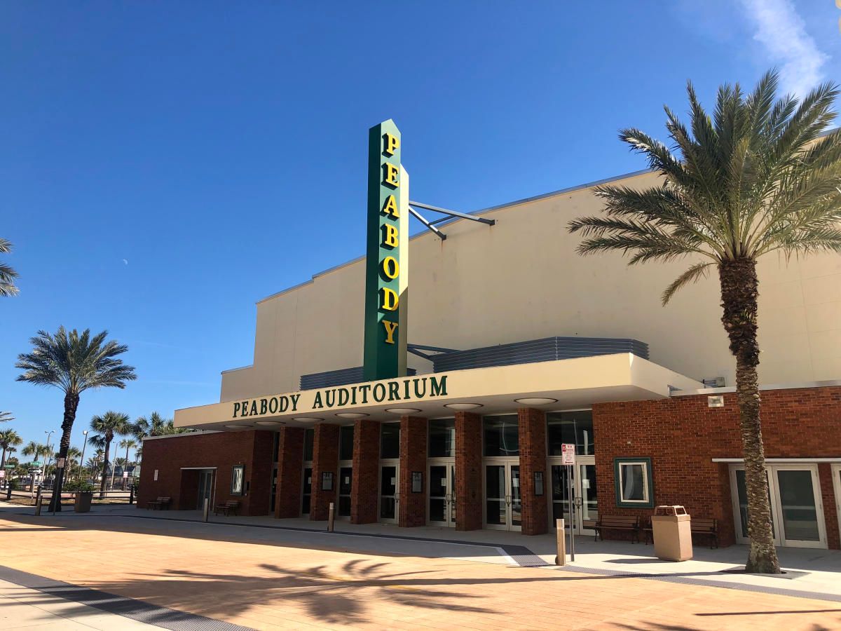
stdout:
[(745, 571), (780, 574), (780, 561), (771, 528), (768, 478), (759, 419), (759, 344), (756, 340), (759, 278), (756, 261), (750, 258), (722, 261), (718, 266), (718, 276), (722, 284), (722, 323), (730, 338), (730, 352), (736, 357), (736, 396), (742, 431), (750, 537)]

